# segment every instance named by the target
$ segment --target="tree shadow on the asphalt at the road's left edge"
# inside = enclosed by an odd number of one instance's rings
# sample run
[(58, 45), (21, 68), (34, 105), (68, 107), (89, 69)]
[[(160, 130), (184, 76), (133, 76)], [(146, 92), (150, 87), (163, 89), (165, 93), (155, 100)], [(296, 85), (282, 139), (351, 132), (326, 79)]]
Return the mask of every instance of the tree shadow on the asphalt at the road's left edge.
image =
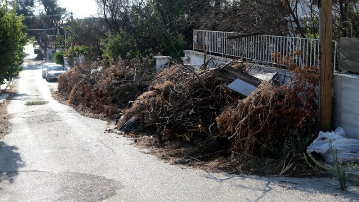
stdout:
[(25, 166), (16, 146), (6, 145), (0, 141), (0, 181), (13, 183), (18, 169)]

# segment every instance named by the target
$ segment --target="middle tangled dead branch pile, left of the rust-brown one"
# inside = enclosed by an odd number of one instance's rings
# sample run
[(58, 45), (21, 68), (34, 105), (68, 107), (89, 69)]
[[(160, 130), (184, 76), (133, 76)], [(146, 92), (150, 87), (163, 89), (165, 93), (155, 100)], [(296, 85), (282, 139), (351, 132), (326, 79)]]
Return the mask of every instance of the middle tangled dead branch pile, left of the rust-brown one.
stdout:
[(136, 125), (136, 132), (155, 133), (160, 143), (164, 139), (196, 142), (197, 155), (226, 153), (229, 141), (218, 135), (215, 118), (239, 98), (226, 86), (236, 77), (227, 78), (227, 82), (221, 77), (226, 67), (231, 68), (223, 65), (196, 71), (191, 66), (173, 65), (164, 69), (148, 91), (125, 110), (118, 128)]

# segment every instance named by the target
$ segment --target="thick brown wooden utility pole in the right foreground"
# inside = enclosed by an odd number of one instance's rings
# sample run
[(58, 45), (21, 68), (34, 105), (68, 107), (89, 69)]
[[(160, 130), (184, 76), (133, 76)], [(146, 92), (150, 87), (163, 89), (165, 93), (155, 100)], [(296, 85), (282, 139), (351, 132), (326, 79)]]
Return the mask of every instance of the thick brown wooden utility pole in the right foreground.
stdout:
[(320, 51), (319, 51), (319, 127), (321, 131), (332, 130), (332, 0), (320, 0)]

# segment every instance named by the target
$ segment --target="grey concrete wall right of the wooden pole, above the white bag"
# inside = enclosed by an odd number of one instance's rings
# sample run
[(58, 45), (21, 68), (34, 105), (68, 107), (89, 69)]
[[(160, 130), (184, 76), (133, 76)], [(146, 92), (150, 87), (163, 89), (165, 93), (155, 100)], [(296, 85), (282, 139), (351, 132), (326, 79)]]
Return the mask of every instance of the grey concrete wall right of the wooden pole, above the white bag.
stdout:
[(359, 76), (335, 74), (333, 128), (342, 127), (348, 138), (359, 139)]

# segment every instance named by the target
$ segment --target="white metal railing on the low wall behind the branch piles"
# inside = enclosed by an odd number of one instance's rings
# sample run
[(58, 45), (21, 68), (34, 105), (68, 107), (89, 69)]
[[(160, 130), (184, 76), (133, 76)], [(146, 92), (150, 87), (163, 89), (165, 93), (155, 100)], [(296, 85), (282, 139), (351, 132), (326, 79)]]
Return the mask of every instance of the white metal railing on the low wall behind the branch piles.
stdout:
[[(334, 42), (334, 66), (338, 43)], [(222, 57), (232, 56), (261, 63), (318, 66), (319, 39), (272, 35), (240, 37), (235, 32), (193, 31), (193, 50)]]

